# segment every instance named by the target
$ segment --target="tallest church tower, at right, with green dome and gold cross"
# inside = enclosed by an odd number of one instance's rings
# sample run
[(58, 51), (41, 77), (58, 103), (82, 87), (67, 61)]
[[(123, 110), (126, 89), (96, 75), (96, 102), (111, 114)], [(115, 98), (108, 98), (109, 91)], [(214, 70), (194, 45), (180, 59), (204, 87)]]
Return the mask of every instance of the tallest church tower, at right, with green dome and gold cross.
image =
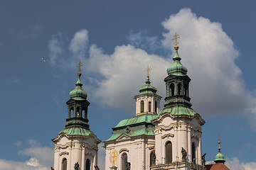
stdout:
[[(151, 169), (203, 169), (201, 126), (205, 121), (193, 111), (189, 97), (188, 69), (178, 55), (178, 35), (174, 36), (176, 54), (167, 69), (164, 109), (151, 123), (155, 125), (156, 165)], [(188, 168), (189, 167), (189, 168)]]

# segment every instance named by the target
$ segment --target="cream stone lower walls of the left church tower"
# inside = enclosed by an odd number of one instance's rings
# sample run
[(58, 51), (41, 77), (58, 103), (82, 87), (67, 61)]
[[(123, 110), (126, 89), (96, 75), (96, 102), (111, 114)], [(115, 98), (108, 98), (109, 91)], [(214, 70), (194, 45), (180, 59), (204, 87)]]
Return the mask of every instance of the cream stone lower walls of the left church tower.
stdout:
[(94, 135), (68, 136), (60, 134), (53, 139), (54, 148), (54, 169), (63, 170), (63, 160), (67, 159), (67, 170), (73, 170), (78, 162), (80, 170), (85, 170), (86, 161), (90, 162), (90, 169), (97, 165), (97, 145), (100, 140)]

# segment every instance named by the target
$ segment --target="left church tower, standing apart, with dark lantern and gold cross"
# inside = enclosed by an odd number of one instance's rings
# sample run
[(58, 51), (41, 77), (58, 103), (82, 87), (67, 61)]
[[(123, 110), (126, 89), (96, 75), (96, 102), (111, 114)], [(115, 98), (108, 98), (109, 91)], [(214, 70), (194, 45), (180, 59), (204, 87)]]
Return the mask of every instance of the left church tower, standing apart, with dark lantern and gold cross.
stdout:
[(89, 128), (87, 108), (90, 103), (87, 101), (87, 93), (82, 90), (81, 66), (79, 62), (78, 81), (67, 101), (68, 118), (65, 128), (52, 140), (55, 143), (55, 170), (91, 170), (97, 166), (97, 145), (101, 141)]

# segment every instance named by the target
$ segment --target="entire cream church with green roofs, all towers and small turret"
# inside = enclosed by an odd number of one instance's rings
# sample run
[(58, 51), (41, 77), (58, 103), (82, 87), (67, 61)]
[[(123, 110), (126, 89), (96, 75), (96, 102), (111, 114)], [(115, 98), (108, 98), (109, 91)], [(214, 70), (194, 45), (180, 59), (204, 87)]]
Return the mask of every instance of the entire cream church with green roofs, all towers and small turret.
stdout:
[[(206, 165), (206, 154), (202, 155), (201, 136), (205, 121), (191, 108), (191, 79), (178, 55), (178, 38), (175, 34), (176, 54), (164, 79), (166, 97), (163, 110), (160, 110), (162, 97), (151, 86), (148, 67), (145, 85), (134, 96), (136, 113), (117, 123), (110, 138), (104, 141), (106, 170), (228, 169), (220, 153), (220, 140), (216, 164)], [(87, 93), (82, 90), (81, 63), (78, 67), (78, 81), (67, 101), (65, 128), (52, 140), (55, 143), (55, 170), (99, 169), (97, 150), (101, 141), (89, 128), (87, 113), (90, 103)]]

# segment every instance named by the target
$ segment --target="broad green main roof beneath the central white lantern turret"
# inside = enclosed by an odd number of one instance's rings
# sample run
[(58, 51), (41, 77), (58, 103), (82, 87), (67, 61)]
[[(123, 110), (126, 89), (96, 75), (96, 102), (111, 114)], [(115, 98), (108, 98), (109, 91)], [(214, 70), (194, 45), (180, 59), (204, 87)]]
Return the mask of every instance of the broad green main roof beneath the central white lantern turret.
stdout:
[[(151, 120), (154, 120), (155, 118), (156, 115), (143, 114), (136, 115), (133, 118), (124, 119), (113, 128), (112, 136), (105, 142), (116, 140), (117, 137), (122, 134), (129, 137), (139, 135), (154, 135), (154, 125), (151, 124)], [(127, 132), (127, 127), (130, 129), (129, 132)]]

